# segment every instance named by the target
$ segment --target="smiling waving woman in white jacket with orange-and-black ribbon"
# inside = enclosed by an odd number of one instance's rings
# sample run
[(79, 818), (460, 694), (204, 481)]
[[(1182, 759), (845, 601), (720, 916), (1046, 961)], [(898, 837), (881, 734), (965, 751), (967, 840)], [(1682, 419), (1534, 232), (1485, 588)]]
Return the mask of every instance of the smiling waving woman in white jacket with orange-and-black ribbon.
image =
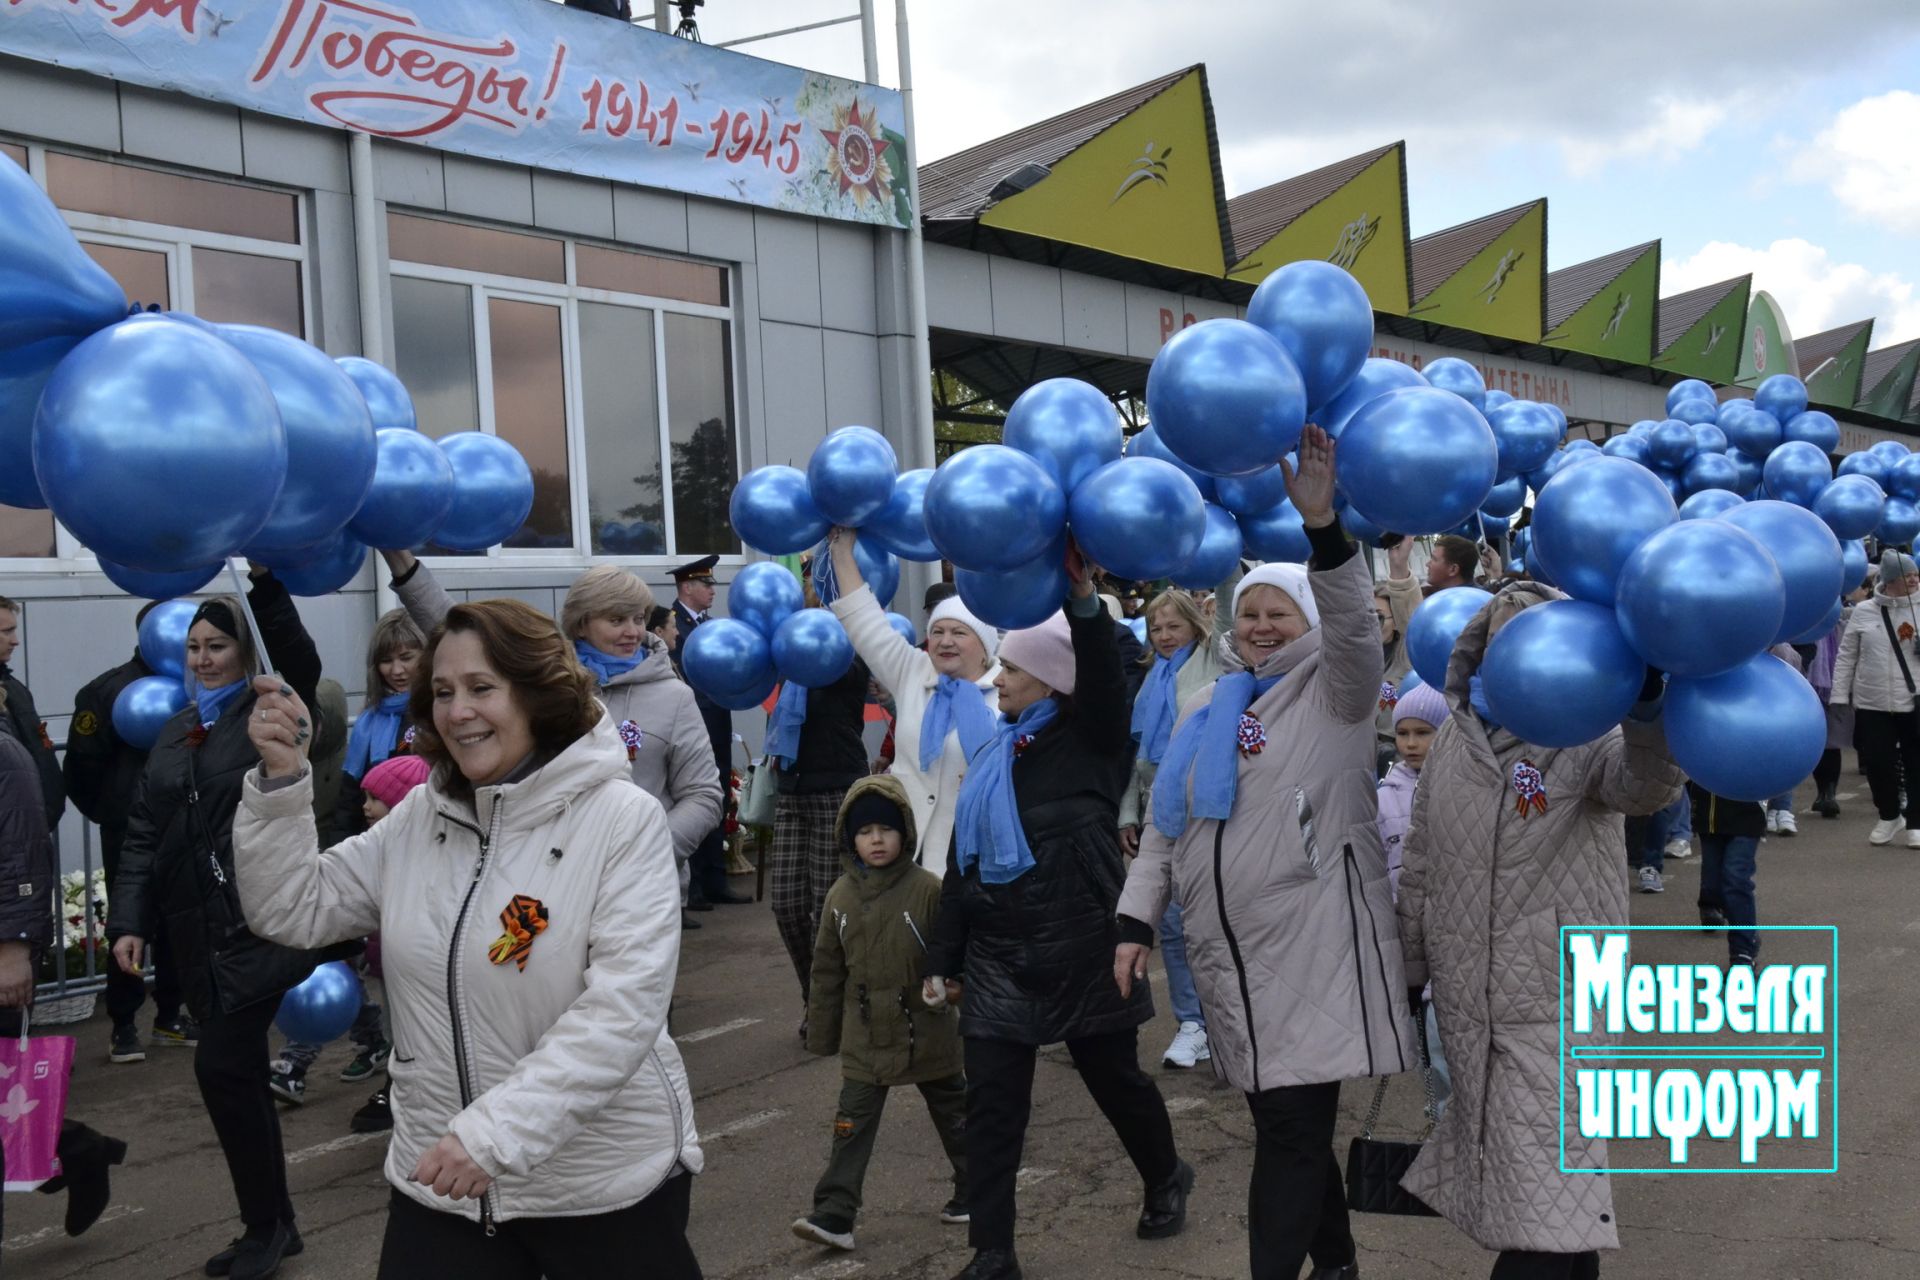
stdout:
[(415, 683), (428, 785), (317, 848), (307, 710), (257, 681), (261, 768), (234, 819), (261, 936), (374, 929), (392, 1002), (382, 1280), (697, 1280), (703, 1167), (666, 1034), (674, 839), (593, 677), (518, 601), (455, 604)]

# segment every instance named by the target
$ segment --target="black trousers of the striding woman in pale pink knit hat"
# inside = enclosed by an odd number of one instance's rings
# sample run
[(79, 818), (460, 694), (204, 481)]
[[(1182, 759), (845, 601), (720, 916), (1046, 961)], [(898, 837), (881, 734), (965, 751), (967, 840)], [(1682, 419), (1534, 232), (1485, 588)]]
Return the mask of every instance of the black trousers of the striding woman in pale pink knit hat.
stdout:
[[(1035, 1044), (966, 1038), (966, 1161), (968, 1244), (975, 1249), (1014, 1247), (1014, 1174), (1027, 1142), (1033, 1111)], [(1154, 1080), (1140, 1071), (1139, 1031), (1068, 1040), (1073, 1069), (1114, 1126), (1146, 1186), (1160, 1186), (1179, 1169), (1173, 1121)]]

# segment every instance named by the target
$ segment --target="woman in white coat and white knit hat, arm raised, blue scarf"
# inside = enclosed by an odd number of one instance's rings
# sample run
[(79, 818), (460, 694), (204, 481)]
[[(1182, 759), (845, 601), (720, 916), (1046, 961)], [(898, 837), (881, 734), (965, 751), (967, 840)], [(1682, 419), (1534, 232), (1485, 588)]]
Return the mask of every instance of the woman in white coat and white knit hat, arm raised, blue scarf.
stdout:
[(847, 628), (854, 652), (879, 687), (893, 695), (893, 768), (914, 802), (920, 865), (947, 873), (954, 835), (954, 800), (975, 750), (1000, 725), (1000, 637), (975, 618), (960, 597), (948, 597), (927, 616), (925, 651), (908, 645), (887, 622), (852, 558), (852, 530), (833, 530), (828, 543), (839, 597), (833, 616)]

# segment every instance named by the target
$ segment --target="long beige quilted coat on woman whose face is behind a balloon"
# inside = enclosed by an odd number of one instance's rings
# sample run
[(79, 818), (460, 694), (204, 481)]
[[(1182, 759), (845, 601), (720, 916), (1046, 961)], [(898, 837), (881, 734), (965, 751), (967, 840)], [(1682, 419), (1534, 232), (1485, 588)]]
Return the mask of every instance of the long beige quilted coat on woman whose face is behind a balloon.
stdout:
[[(1490, 616), (1553, 595), (1521, 583), (1467, 624), (1448, 668), (1453, 716), (1413, 794), (1400, 940), (1407, 981), (1432, 979), (1453, 1100), (1402, 1186), (1488, 1249), (1580, 1253), (1620, 1240), (1609, 1180), (1559, 1171), (1559, 927), (1628, 923), (1620, 816), (1672, 804), (1682, 775), (1659, 723), (1549, 750), (1473, 714)], [(1546, 777), (1544, 814), (1515, 808), (1521, 760)], [(1607, 1144), (1569, 1125), (1567, 1165), (1605, 1163)]]

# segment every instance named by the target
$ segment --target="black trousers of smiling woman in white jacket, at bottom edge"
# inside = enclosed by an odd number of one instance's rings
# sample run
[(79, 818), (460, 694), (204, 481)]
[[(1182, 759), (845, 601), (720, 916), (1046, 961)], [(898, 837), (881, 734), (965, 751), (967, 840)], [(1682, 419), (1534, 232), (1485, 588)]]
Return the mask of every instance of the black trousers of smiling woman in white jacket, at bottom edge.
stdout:
[(495, 1236), (457, 1213), (388, 1199), (378, 1280), (701, 1280), (687, 1244), (693, 1174), (637, 1205), (572, 1219), (511, 1219)]

